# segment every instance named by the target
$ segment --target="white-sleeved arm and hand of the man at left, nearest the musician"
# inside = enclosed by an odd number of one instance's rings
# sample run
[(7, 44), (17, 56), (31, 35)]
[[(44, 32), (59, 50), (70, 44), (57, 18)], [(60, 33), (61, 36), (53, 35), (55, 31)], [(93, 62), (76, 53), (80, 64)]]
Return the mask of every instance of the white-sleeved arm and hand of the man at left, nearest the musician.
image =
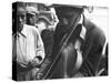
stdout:
[(36, 29), (33, 33), (34, 33), (34, 43), (36, 43), (34, 45), (36, 56), (31, 63), (33, 66), (39, 66), (46, 56), (44, 46), (43, 46), (43, 42), (41, 40), (39, 31)]

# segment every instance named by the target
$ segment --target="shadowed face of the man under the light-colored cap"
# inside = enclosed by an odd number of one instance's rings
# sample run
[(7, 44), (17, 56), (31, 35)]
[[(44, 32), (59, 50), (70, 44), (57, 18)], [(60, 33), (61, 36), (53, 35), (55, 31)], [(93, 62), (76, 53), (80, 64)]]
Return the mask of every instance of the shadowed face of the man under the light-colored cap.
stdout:
[(36, 13), (27, 13), (27, 24), (34, 25), (37, 22), (37, 15)]

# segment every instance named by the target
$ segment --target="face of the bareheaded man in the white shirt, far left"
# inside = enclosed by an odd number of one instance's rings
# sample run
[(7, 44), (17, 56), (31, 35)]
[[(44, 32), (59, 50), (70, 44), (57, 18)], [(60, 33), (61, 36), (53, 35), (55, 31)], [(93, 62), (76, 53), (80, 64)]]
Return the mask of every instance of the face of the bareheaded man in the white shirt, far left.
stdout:
[(26, 23), (26, 10), (22, 7), (17, 9), (17, 29), (21, 31), (23, 29), (23, 24)]

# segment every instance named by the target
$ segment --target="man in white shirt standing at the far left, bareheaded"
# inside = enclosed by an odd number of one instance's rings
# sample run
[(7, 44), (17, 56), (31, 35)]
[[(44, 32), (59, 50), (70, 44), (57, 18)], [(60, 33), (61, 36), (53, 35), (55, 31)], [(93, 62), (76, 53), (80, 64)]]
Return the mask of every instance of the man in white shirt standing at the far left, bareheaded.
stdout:
[(13, 3), (13, 80), (36, 80), (36, 74), (46, 56), (43, 42), (38, 29), (34, 25), (26, 24), (27, 11), (23, 2)]

